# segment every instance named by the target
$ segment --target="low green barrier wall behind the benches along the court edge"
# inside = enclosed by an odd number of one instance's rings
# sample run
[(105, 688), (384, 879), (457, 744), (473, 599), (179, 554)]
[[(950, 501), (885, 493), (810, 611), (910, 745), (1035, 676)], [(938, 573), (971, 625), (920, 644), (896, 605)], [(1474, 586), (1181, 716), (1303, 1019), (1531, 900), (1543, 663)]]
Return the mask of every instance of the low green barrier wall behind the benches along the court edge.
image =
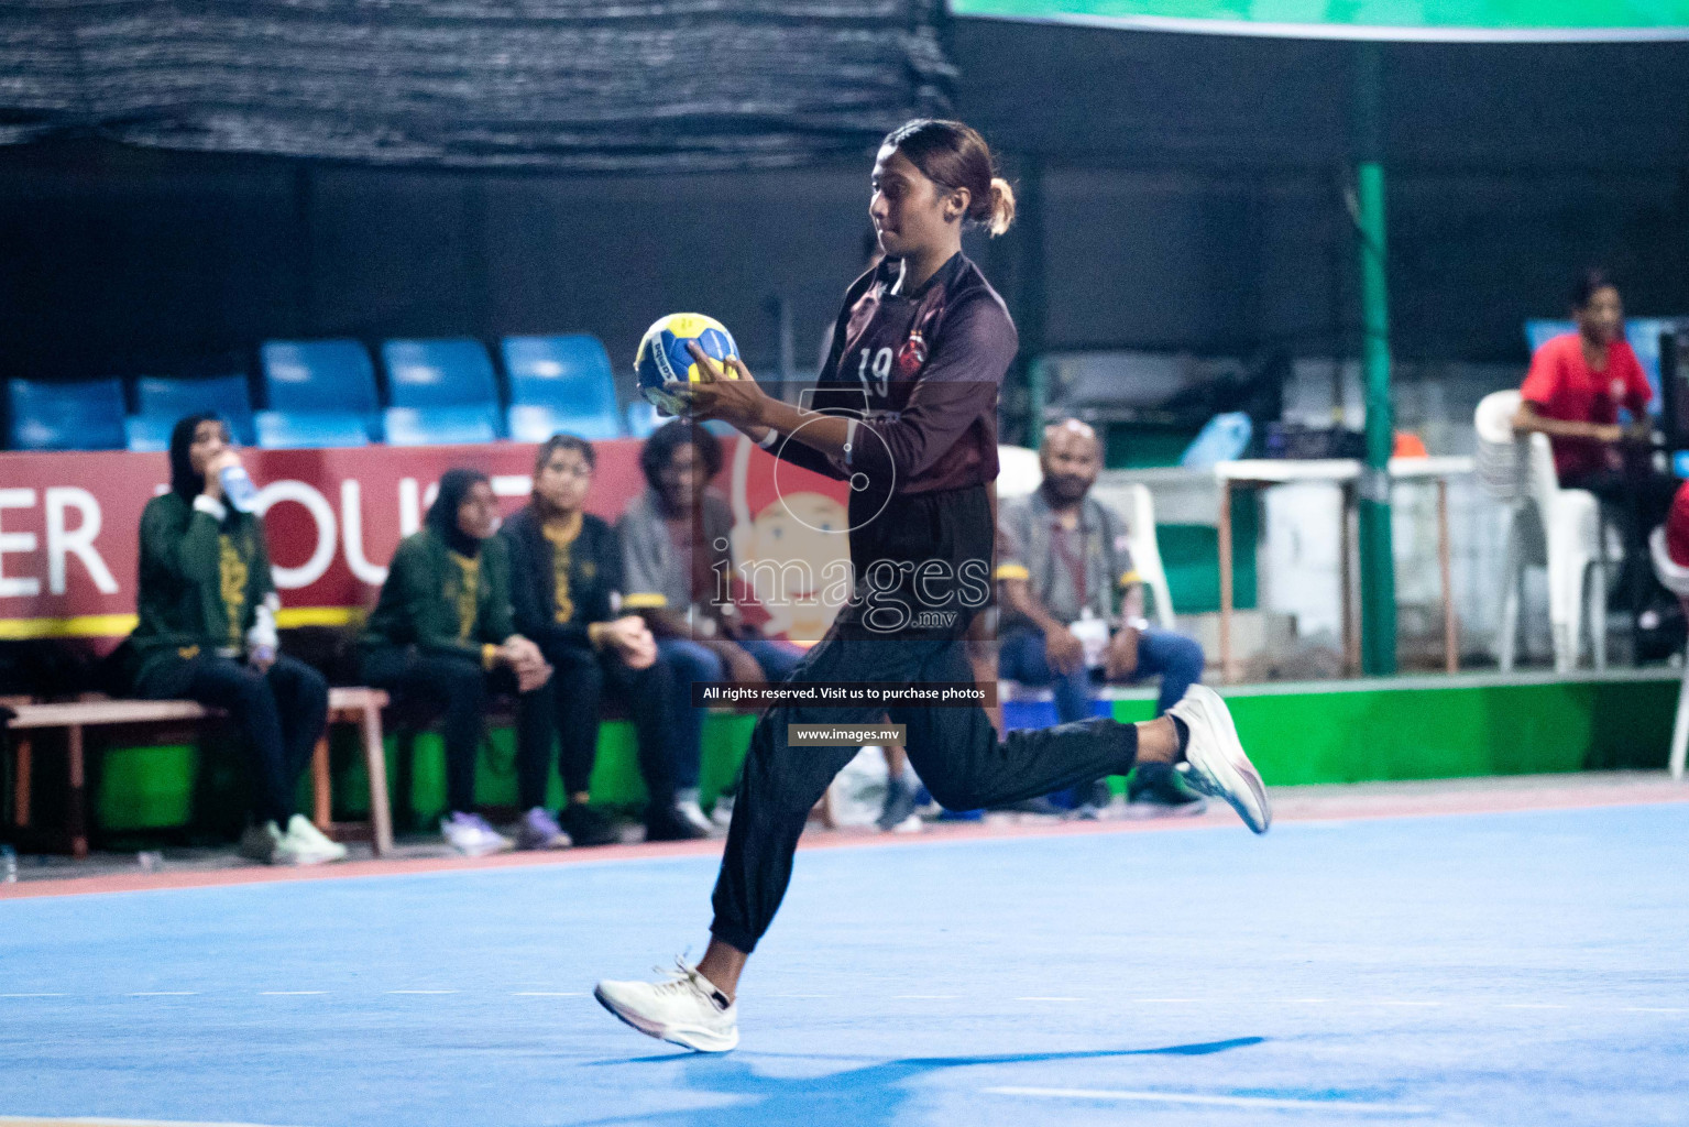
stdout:
[[(1270, 784), (1442, 779), (1589, 769), (1662, 769), (1679, 681), (1675, 676), (1554, 681), (1523, 678), (1412, 678), (1373, 683), (1240, 688), (1226, 698), (1238, 733)], [(1121, 721), (1147, 720), (1154, 703), (1135, 693), (1115, 703)], [(704, 803), (738, 770), (755, 716), (713, 713), (704, 725)], [(495, 730), (483, 749), (478, 796), (515, 804), (513, 735)], [(238, 826), (238, 757), (225, 742), (111, 749), (96, 779), (103, 833), (182, 826)], [(62, 782), (42, 742), (37, 804), (44, 816)], [(368, 809), (368, 782), (355, 733), (336, 732), (338, 816)], [(388, 777), (397, 777), (388, 738)], [(417, 738), (410, 806), (421, 819), (444, 806), (444, 757), (436, 735)], [(304, 794), (304, 792), (302, 792)], [(561, 786), (552, 779), (552, 801)], [(598, 803), (637, 808), (645, 791), (627, 721), (603, 725), (593, 772)], [(395, 804), (402, 801), (395, 796)]]

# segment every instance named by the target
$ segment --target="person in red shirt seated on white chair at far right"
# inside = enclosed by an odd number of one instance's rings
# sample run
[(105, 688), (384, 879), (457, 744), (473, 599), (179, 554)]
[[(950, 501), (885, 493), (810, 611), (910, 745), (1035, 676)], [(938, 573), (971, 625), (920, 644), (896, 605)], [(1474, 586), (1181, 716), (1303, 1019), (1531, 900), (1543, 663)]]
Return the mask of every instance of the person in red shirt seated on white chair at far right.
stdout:
[[(1572, 291), (1576, 333), (1562, 333), (1530, 358), (1520, 387), (1517, 431), (1540, 431), (1554, 443), (1562, 488), (1589, 490), (1625, 541), (1625, 581), (1632, 613), (1657, 595), (1648, 566), (1648, 532), (1665, 519), (1675, 480), (1654, 471), (1648, 399), (1642, 362), (1625, 341), (1625, 308), (1605, 270), (1586, 270)], [(1618, 419), (1620, 407), (1630, 424)]]

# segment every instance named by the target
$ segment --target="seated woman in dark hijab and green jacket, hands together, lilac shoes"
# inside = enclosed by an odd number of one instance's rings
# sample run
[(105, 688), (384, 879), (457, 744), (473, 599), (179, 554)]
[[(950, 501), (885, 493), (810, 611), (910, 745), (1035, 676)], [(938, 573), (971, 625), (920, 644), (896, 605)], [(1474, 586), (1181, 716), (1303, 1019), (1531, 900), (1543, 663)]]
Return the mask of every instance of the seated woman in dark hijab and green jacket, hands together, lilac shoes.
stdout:
[(486, 475), (448, 470), (422, 531), (394, 553), (358, 639), (368, 684), (444, 710), (449, 811), (441, 833), (470, 857), (512, 845), (475, 813), (475, 755), (490, 694), (515, 691), (534, 705), (520, 710), (519, 764), (551, 765), (551, 666), (512, 625), (510, 554), (497, 529), (498, 502)]

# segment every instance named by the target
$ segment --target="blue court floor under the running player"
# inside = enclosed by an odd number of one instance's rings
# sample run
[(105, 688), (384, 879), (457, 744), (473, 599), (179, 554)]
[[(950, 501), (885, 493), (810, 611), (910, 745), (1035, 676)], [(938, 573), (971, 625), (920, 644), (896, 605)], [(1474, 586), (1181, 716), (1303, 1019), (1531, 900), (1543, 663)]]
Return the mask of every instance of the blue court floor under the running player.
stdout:
[(1689, 804), (804, 852), (691, 1056), (713, 874), (0, 902), (0, 1124), (1689, 1124)]

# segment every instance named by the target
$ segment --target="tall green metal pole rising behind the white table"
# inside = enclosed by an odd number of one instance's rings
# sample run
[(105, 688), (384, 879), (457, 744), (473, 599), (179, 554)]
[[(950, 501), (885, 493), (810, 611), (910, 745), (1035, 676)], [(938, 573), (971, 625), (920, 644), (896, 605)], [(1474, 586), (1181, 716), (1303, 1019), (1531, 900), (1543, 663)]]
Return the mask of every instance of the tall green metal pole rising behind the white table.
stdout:
[(1358, 46), (1355, 196), (1361, 267), (1361, 365), (1366, 375), (1366, 466), (1360, 480), (1361, 671), (1395, 672), (1395, 554), (1390, 546), (1390, 294), (1385, 280), (1383, 59)]

